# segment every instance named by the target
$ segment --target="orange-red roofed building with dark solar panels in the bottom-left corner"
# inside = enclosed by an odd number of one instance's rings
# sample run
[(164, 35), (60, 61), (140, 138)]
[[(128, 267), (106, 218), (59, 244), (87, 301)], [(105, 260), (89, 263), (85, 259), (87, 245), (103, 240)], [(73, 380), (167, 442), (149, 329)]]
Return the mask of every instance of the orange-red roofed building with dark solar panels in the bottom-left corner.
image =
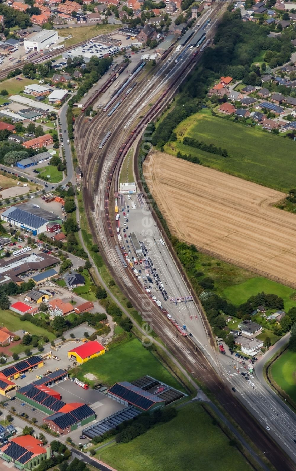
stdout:
[(51, 457), (50, 446), (44, 447), (42, 441), (32, 435), (13, 437), (0, 449), (1, 458), (8, 463), (14, 463), (15, 467), (21, 470), (32, 469)]

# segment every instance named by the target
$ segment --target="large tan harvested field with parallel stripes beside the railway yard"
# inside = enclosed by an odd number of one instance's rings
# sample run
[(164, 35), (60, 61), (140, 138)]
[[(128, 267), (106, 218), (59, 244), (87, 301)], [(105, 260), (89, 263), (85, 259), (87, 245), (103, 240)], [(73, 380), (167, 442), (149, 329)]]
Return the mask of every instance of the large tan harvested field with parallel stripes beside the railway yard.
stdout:
[(296, 215), (271, 206), (285, 194), (160, 152), (144, 175), (172, 234), (296, 288)]

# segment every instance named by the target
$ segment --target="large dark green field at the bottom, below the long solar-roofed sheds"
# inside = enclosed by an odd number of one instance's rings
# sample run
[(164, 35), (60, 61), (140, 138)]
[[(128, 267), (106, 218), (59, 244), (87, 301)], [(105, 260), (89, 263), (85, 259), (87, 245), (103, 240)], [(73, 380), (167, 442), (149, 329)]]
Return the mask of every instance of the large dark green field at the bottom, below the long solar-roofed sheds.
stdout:
[(180, 408), (172, 421), (156, 425), (127, 444), (103, 448), (99, 454), (118, 471), (252, 469), (197, 403)]

